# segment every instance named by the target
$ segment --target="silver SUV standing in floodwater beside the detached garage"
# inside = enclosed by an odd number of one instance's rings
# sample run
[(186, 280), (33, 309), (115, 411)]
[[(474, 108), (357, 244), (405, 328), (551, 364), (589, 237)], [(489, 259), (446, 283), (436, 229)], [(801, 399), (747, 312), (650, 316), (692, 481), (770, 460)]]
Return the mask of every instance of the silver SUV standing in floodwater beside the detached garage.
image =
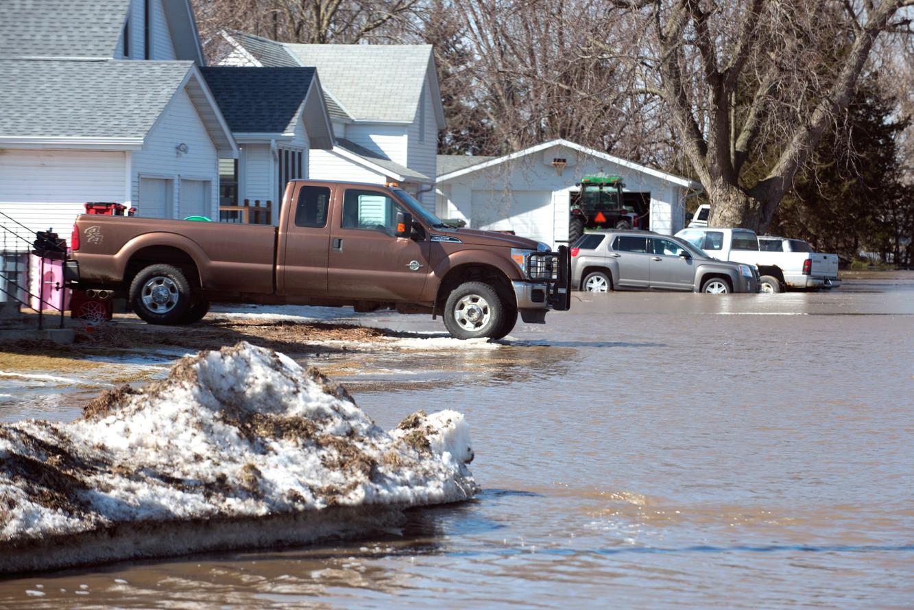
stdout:
[(601, 230), (571, 244), (571, 286), (610, 290), (757, 293), (759, 272), (718, 261), (687, 241), (646, 230)]

